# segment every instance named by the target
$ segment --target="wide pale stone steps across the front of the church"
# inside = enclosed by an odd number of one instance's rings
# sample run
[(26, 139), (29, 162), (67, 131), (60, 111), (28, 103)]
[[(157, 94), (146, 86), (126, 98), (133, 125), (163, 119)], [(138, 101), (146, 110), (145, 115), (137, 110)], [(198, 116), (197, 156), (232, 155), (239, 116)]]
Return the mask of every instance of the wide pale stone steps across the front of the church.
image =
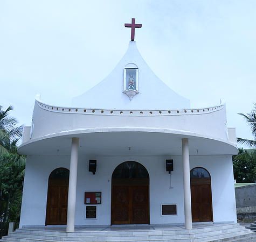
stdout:
[(59, 241), (98, 241), (98, 242), (146, 242), (146, 241), (256, 241), (256, 233), (239, 224), (196, 225), (192, 230), (182, 226), (145, 226), (145, 227), (86, 227), (76, 228), (73, 233), (66, 233), (57, 228), (24, 228), (9, 233), (0, 241), (21, 242), (59, 242)]

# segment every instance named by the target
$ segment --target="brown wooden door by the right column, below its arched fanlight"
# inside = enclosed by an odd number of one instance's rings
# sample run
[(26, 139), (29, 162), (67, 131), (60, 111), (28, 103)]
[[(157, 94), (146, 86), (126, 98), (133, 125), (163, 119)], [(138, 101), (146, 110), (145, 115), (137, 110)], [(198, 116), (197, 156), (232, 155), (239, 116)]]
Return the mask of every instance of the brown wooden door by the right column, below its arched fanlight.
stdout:
[(211, 184), (200, 184), (191, 179), (191, 207), (192, 222), (212, 221)]

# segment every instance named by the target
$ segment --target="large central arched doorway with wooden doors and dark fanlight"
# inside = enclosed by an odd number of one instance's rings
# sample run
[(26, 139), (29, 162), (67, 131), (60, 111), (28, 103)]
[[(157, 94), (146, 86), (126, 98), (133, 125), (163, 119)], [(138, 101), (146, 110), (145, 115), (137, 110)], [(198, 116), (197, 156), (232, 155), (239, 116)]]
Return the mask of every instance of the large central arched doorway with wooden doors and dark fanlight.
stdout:
[(112, 174), (111, 224), (149, 224), (149, 174), (135, 161)]

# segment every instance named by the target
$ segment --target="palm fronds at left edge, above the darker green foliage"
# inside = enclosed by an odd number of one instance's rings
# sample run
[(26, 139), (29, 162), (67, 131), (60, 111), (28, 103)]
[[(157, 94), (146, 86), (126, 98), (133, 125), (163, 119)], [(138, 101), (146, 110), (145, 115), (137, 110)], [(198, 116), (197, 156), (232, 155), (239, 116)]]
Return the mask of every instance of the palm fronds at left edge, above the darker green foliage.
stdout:
[(12, 106), (6, 110), (2, 110), (2, 108), (0, 105), (0, 154), (17, 153), (16, 145), (22, 137), (22, 126), (17, 127), (16, 118), (9, 116), (9, 112), (13, 110)]

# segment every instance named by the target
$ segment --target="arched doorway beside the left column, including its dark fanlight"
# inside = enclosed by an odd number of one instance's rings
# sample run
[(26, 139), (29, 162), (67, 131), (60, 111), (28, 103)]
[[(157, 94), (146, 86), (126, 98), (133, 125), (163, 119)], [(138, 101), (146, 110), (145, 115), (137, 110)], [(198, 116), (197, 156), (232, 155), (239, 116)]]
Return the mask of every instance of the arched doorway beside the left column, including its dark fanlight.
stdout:
[(45, 225), (67, 223), (69, 176), (70, 171), (66, 168), (57, 168), (49, 176)]

